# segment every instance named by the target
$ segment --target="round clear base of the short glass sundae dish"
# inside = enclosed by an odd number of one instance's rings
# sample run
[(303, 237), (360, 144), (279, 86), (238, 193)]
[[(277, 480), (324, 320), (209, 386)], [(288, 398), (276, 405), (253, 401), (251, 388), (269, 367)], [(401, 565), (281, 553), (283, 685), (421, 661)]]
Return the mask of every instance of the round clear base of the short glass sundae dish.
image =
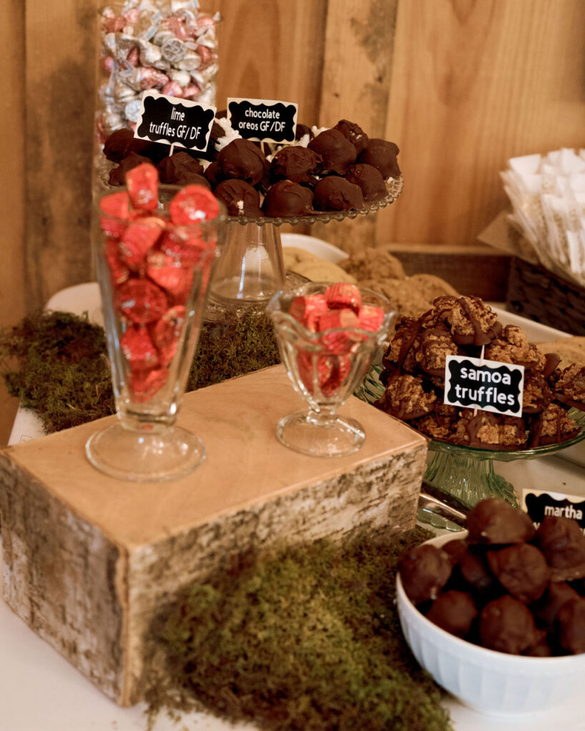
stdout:
[(357, 452), (366, 434), (355, 419), (299, 412), (281, 419), (276, 436), (285, 447), (312, 457), (342, 457)]

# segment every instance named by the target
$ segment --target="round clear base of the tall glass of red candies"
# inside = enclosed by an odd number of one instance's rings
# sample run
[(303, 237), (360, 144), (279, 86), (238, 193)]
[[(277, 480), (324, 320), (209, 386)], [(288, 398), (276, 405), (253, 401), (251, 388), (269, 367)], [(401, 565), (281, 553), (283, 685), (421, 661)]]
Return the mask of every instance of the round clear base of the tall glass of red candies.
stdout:
[(157, 482), (192, 472), (205, 459), (205, 445), (178, 426), (156, 426), (148, 431), (118, 423), (92, 434), (86, 442), (86, 455), (110, 477)]

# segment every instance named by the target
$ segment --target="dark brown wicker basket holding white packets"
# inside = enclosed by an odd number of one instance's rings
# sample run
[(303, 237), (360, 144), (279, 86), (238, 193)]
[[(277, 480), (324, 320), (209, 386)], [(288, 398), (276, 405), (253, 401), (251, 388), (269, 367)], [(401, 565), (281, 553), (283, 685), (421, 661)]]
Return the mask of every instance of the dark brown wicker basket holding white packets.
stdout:
[(513, 257), (506, 308), (522, 317), (585, 335), (585, 289), (539, 265)]

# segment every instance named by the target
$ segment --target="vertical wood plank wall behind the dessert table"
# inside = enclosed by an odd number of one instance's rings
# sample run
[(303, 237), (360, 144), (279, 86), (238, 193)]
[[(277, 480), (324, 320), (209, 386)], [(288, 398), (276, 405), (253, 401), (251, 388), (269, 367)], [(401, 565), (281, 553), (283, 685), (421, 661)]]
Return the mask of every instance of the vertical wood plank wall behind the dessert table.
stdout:
[[(0, 326), (92, 277), (99, 4), (0, 3)], [(224, 16), (219, 108), (227, 96), (295, 101), (307, 124), (348, 118), (399, 144), (398, 202), (375, 219), (314, 227), (345, 249), (393, 242), (465, 251), (506, 205), (499, 171), (508, 158), (585, 146), (583, 0), (207, 6)], [(1, 391), (0, 444), (14, 410)]]

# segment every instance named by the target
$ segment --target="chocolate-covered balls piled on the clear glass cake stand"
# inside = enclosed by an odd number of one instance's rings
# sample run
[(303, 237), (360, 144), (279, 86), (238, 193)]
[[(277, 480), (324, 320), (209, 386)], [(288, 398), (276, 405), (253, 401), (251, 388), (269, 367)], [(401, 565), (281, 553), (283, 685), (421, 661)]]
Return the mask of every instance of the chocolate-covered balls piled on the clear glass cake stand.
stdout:
[(225, 112), (216, 115), (205, 154), (134, 139), (129, 129), (107, 138), (104, 154), (116, 163), (107, 182), (117, 186), (146, 159), (164, 183), (205, 184), (229, 216), (295, 218), (325, 211), (361, 211), (388, 196), (400, 177), (396, 143), (369, 137), (346, 119), (334, 127), (298, 124), (290, 145), (244, 140)]

